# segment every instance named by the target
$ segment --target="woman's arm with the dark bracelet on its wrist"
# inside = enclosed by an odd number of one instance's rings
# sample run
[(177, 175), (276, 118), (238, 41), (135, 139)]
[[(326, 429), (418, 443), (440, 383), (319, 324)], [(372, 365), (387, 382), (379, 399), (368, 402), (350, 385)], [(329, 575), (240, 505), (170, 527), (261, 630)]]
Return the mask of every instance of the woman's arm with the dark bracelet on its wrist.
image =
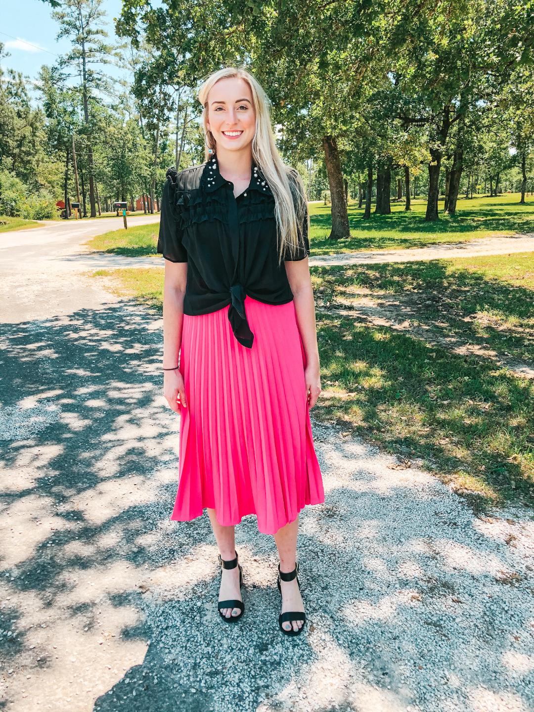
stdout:
[[(178, 365), (180, 346), (182, 345), (182, 324), (184, 321), (184, 294), (187, 284), (187, 262), (165, 260), (163, 286), (163, 367), (174, 368)], [(163, 394), (167, 403), (179, 412), (180, 402), (187, 407), (184, 379), (175, 369), (163, 372)]]

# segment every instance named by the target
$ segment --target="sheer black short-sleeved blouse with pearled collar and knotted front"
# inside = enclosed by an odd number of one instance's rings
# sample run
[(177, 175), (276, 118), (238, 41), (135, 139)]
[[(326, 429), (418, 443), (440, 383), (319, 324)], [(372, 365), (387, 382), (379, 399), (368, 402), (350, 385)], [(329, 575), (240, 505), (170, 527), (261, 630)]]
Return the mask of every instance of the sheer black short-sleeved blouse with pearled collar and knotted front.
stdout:
[(310, 254), (308, 215), (300, 226), (300, 246), (288, 249), (278, 266), (275, 200), (255, 162), (251, 182), (234, 196), (234, 184), (212, 157), (179, 173), (169, 168), (164, 183), (157, 251), (171, 262), (187, 262), (184, 314), (207, 314), (230, 304), (236, 339), (252, 348), (254, 335), (245, 313), (245, 295), (266, 304), (293, 299), (284, 260)]

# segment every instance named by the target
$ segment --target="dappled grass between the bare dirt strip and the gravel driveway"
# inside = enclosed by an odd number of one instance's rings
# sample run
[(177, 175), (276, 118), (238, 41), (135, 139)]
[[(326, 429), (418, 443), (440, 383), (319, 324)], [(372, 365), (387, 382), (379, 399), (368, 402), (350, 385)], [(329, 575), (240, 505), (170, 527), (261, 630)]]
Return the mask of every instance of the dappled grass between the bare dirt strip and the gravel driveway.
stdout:
[(388, 328), (318, 315), (316, 417), (417, 458), (478, 508), (534, 503), (534, 384)]

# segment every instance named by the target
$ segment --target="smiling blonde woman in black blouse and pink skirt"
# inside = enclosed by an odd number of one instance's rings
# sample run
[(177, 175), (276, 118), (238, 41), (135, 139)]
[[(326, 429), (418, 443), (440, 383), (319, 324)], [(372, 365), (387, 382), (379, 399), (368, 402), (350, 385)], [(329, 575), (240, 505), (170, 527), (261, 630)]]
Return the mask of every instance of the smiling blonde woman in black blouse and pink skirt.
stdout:
[(305, 624), (298, 513), (324, 502), (309, 409), (321, 392), (302, 179), (283, 164), (268, 98), (241, 68), (199, 91), (206, 161), (167, 171), (157, 250), (165, 261), (164, 397), (180, 414), (171, 519), (207, 509), (221, 565), (218, 609), (244, 612), (234, 525), (274, 535), (278, 624)]

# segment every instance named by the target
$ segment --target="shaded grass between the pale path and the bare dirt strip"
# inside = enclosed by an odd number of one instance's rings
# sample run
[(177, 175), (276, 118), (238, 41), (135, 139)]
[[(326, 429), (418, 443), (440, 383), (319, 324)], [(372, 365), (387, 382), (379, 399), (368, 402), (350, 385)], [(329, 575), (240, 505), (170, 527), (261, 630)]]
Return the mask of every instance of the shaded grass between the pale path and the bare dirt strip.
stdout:
[(533, 252), (313, 268), (313, 285), (326, 308), (357, 307), (356, 292), (399, 295), (415, 326), (534, 362)]

